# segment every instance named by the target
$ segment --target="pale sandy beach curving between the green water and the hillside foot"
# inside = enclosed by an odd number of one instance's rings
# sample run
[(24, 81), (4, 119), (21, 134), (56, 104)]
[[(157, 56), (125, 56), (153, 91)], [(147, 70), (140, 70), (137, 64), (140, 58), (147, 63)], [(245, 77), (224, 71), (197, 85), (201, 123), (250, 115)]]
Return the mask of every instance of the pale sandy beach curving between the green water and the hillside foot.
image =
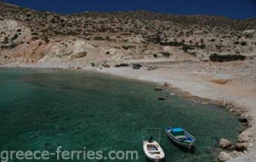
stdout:
[[(238, 66), (236, 66), (239, 64)], [(133, 70), (131, 67), (81, 67), (84, 70), (94, 70), (100, 73), (108, 73), (115, 76), (122, 76), (130, 79), (158, 83), (163, 85), (168, 83), (170, 86), (181, 89), (190, 95), (200, 98), (207, 98), (221, 103), (233, 104), (239, 107), (242, 114), (251, 119), (251, 127), (248, 128), (256, 136), (256, 77), (254, 62), (246, 64), (232, 63), (223, 64), (220, 68), (217, 64), (198, 63), (198, 64), (173, 64), (171, 66), (159, 65), (156, 70)], [(229, 68), (231, 66), (231, 68)], [(251, 68), (247, 68), (251, 66)], [(70, 64), (40, 64), (24, 67), (60, 67), (68, 68)], [(79, 67), (74, 66), (74, 67)], [(225, 67), (225, 68), (224, 68)], [(210, 69), (209, 69), (210, 68)], [(216, 69), (217, 70), (216, 70)], [(223, 80), (225, 81), (223, 83)], [(220, 82), (221, 81), (221, 82)], [(230, 108), (230, 112), (235, 111)], [(243, 162), (256, 161), (255, 140), (251, 142), (251, 148), (244, 151), (238, 157), (229, 161)]]

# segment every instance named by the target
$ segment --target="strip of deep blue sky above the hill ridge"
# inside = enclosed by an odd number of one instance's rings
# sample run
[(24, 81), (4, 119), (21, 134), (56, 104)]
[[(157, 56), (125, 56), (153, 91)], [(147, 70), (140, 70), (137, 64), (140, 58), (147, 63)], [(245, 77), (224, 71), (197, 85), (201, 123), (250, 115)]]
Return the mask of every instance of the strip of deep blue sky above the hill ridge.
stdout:
[(256, 17), (256, 0), (3, 0), (40, 11), (72, 14), (84, 11), (147, 10), (166, 14), (210, 14)]

